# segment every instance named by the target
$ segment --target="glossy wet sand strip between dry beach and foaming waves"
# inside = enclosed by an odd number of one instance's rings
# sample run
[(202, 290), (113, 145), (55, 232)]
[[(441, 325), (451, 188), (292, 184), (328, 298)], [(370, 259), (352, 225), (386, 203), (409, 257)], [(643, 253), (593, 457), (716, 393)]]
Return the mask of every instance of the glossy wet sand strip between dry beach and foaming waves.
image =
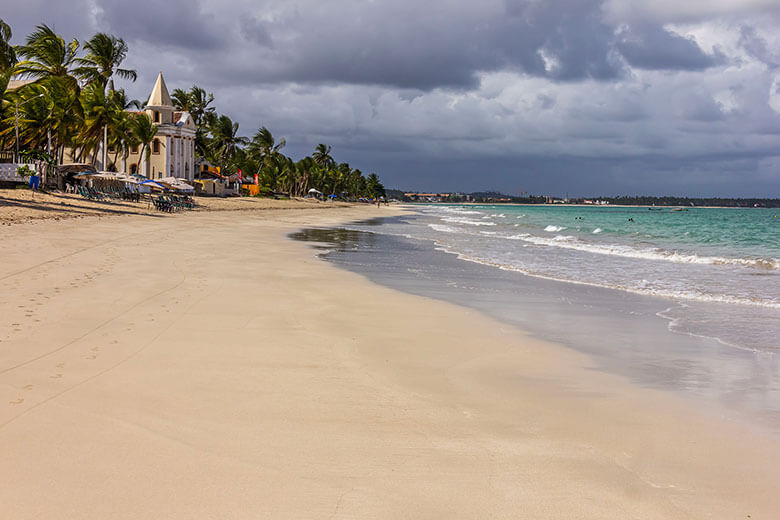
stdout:
[(397, 227), (383, 232), (373, 224), (351, 224), (293, 236), (321, 248), (325, 261), (372, 283), (476, 310), (582, 353), (594, 369), (632, 385), (780, 435), (774, 352), (674, 330), (678, 318), (669, 313), (679, 304), (673, 301), (464, 259)]

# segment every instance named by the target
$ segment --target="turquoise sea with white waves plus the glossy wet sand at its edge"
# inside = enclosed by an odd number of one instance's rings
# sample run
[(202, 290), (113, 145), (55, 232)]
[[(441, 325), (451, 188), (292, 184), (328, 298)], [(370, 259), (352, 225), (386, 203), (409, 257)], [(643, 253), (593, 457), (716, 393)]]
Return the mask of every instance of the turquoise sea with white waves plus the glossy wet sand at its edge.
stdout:
[(477, 308), (780, 432), (777, 210), (412, 210), (297, 238), (378, 283)]

